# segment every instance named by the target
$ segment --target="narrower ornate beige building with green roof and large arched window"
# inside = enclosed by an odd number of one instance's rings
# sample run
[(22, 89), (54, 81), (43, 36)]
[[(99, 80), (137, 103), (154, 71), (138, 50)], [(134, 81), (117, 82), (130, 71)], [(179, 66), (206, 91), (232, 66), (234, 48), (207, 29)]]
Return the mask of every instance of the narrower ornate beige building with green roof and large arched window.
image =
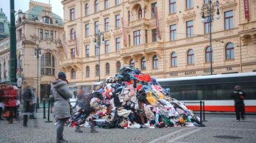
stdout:
[(40, 101), (49, 97), (51, 81), (59, 72), (63, 33), (63, 20), (51, 11), (50, 4), (30, 1), (29, 10), (18, 12), (17, 77), (35, 87), (39, 80)]

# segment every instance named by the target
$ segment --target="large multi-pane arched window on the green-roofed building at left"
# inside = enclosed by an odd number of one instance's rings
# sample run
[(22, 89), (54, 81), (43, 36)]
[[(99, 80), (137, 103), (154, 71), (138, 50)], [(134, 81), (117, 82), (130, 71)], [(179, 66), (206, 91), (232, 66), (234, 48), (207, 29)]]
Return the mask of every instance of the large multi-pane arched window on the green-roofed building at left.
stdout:
[(55, 75), (55, 59), (54, 56), (50, 53), (46, 53), (41, 56), (41, 75)]

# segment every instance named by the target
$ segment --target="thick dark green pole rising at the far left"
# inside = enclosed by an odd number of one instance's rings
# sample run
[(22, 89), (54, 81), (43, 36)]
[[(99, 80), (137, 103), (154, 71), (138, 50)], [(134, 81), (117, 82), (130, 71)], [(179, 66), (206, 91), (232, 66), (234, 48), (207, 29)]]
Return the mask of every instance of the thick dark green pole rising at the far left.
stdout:
[(16, 82), (16, 28), (14, 0), (10, 0), (10, 82)]

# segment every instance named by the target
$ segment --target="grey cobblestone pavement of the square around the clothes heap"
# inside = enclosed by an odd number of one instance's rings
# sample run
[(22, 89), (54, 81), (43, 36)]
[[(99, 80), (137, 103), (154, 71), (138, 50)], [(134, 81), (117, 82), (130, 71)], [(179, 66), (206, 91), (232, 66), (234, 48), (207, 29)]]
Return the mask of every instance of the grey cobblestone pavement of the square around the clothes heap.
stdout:
[[(0, 121), (0, 142), (55, 142), (54, 122), (46, 123), (43, 114), (38, 120), (29, 120), (29, 127), (23, 128), (22, 118), (12, 125)], [(74, 133), (74, 128), (65, 127), (64, 136), (68, 142), (256, 142), (256, 116), (247, 116), (245, 122), (236, 122), (235, 115), (206, 115), (206, 127), (161, 128), (161, 129), (98, 129), (99, 133)], [(51, 118), (51, 121), (54, 121)], [(234, 139), (235, 138), (235, 139)]]

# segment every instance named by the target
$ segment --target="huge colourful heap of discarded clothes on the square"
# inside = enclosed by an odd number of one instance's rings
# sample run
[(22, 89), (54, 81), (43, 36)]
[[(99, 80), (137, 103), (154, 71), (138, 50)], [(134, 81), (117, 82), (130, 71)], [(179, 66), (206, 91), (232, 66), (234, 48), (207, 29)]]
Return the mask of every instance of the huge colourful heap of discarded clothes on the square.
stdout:
[[(126, 66), (96, 87), (90, 100), (93, 117), (100, 128), (163, 128), (199, 125), (193, 111), (171, 98), (169, 91), (156, 79)], [(90, 119), (90, 117), (88, 117)], [(85, 114), (77, 112), (71, 125), (85, 122)]]

